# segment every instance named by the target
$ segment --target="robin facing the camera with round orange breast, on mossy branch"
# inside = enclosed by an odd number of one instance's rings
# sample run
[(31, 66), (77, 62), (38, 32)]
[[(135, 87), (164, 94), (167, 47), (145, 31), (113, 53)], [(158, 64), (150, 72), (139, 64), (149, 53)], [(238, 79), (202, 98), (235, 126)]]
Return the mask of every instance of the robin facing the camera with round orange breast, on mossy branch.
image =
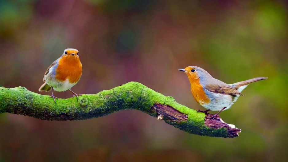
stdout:
[(54, 61), (46, 70), (43, 81), (45, 82), (39, 88), (39, 91), (52, 90), (51, 97), (55, 101), (53, 90), (63, 92), (69, 90), (73, 97), (81, 96), (74, 93), (71, 88), (76, 85), (82, 75), (82, 64), (79, 59), (78, 50), (73, 48), (65, 49), (62, 56)]

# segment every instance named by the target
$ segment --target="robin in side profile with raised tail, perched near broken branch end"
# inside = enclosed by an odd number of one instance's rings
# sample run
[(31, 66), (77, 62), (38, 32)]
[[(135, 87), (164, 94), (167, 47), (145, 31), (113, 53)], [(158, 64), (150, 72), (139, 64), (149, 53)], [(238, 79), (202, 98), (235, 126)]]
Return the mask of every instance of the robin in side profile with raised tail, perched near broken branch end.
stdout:
[(219, 111), (210, 119), (214, 118), (223, 110), (229, 109), (239, 96), (244, 96), (241, 91), (250, 83), (267, 79), (267, 77), (257, 77), (247, 81), (240, 81), (234, 84), (226, 84), (223, 81), (213, 78), (207, 71), (197, 66), (188, 66), (185, 69), (178, 69), (187, 74), (191, 84), (191, 92), (194, 99), (206, 108), (203, 112)]

